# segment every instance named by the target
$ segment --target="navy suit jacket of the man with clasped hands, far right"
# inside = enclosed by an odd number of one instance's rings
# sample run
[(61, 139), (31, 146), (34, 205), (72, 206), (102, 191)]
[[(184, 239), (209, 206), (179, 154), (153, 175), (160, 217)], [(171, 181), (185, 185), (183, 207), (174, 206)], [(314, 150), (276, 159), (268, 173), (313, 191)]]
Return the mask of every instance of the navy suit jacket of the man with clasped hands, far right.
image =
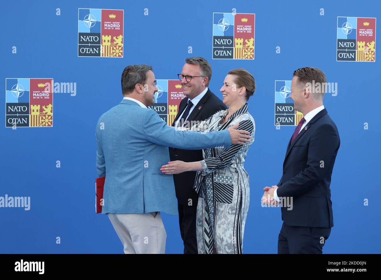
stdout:
[(330, 184), (339, 132), (326, 109), (306, 127), (288, 142), (277, 195), (293, 197), (293, 205), (287, 210), (283, 204), (282, 220), (289, 226), (333, 227)]

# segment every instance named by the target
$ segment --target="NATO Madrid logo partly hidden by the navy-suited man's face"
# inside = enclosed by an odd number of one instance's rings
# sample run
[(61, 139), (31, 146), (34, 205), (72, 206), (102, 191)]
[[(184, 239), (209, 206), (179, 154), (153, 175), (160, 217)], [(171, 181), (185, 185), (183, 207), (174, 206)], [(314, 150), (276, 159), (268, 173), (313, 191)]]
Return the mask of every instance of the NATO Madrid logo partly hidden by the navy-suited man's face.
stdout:
[(275, 81), (275, 123), (274, 125), (298, 125), (303, 114), (294, 109), (290, 98), (291, 81)]

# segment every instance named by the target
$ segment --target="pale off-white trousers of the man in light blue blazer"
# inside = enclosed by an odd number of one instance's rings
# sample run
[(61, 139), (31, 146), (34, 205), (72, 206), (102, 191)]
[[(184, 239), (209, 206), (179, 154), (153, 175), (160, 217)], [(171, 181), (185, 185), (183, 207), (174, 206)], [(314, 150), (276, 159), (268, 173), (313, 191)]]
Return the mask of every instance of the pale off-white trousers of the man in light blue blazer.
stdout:
[(166, 232), (160, 212), (107, 213), (125, 254), (165, 254)]

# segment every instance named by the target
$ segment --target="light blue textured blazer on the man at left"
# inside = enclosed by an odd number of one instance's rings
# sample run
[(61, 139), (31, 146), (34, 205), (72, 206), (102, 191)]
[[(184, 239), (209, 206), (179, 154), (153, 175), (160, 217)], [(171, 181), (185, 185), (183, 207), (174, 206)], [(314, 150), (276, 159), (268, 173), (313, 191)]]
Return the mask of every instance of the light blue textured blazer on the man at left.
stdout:
[(127, 99), (99, 118), (95, 134), (98, 177), (106, 176), (102, 214), (177, 215), (173, 175), (160, 171), (170, 161), (168, 147), (200, 150), (231, 145), (227, 130), (176, 130), (154, 110)]

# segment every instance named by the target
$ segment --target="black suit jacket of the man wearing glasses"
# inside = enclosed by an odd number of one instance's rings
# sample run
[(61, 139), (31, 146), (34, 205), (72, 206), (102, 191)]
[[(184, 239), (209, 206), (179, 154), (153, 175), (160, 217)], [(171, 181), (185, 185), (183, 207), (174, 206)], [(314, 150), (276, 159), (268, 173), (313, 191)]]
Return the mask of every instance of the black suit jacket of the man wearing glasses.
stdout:
[[(185, 110), (188, 104), (189, 98), (184, 98), (180, 102), (179, 111), (174, 119), (174, 123), (180, 117), (182, 111)], [(201, 106), (201, 109), (199, 107)], [(187, 118), (189, 121), (203, 121), (209, 118), (211, 115), (214, 115), (220, 110), (226, 110), (227, 107), (215, 94), (213, 94), (208, 88), (207, 93), (201, 98), (199, 103), (194, 107), (191, 114)], [(202, 150), (182, 150), (170, 148), (170, 158), (173, 160), (182, 160), (183, 162), (198, 162), (203, 160)], [(173, 181), (176, 190), (176, 197), (180, 204), (187, 205), (188, 199), (192, 199), (192, 205), (197, 205), (197, 200), (199, 195), (193, 189), (194, 180), (196, 177), (195, 171), (183, 172), (180, 174), (173, 174)]]

